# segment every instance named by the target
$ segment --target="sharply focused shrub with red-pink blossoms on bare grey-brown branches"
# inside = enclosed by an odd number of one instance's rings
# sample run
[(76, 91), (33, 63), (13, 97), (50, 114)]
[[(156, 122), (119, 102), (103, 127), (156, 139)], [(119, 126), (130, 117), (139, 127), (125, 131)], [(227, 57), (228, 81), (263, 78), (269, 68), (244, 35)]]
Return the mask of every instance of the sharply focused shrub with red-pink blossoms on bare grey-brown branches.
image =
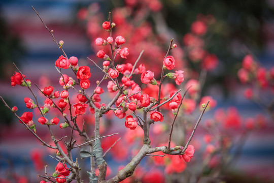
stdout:
[[(34, 8), (33, 10), (36, 11)], [(37, 15), (41, 19), (38, 13)], [(41, 21), (43, 22), (42, 19)], [(142, 54), (144, 51), (142, 51), (139, 57), (136, 58), (134, 65), (129, 63), (122, 65), (116, 64), (116, 57), (120, 55), (121, 58), (126, 59), (129, 55), (130, 49), (123, 46), (126, 42), (123, 36), (118, 35), (113, 39), (113, 28), (115, 27), (115, 23), (112, 22), (110, 15), (109, 20), (102, 23), (102, 28), (109, 33), (109, 37), (106, 40), (104, 38), (96, 38), (94, 41), (98, 46), (105, 46), (104, 49), (99, 50), (96, 54), (98, 58), (105, 60), (102, 62), (102, 68), (99, 66), (100, 64), (96, 64), (100, 62), (99, 60), (94, 62), (92, 59), (88, 58), (98, 69), (101, 70), (102, 79), (101, 81), (96, 81), (93, 93), (87, 93), (86, 89), (91, 86), (89, 79), (92, 77), (92, 71), (90, 67), (79, 66), (77, 57), (72, 56), (68, 58), (62, 48), (64, 42), (56, 42), (53, 31), (50, 31), (45, 23), (44, 25), (63, 53), (63, 55), (59, 56), (55, 62), (55, 67), (60, 73), (59, 84), (63, 87), (63, 90), (61, 92), (56, 91), (53, 86), (40, 88), (35, 84), (45, 97), (44, 105), (41, 105), (30, 85), (31, 81), (27, 79), (27, 76), (24, 75), (15, 64), (14, 67), (17, 72), (15, 72), (11, 77), (11, 85), (16, 87), (17, 85), (25, 86), (29, 89), (33, 98), (24, 98), (26, 107), (28, 109), (39, 110), (40, 117), (38, 118), (38, 122), (48, 128), (54, 145), (39, 137), (36, 132), (37, 123), (32, 120), (32, 112), (24, 112), (21, 116), (18, 116), (16, 113), (17, 107), (14, 106), (11, 108), (1, 97), (2, 101), (19, 119), (20, 123), (22, 123), (37, 139), (39, 139), (44, 146), (56, 150), (56, 160), (58, 160), (59, 163), (55, 167), (55, 172), (52, 175), (47, 172), (45, 172), (45, 175), (39, 175), (44, 178), (41, 182), (72, 182), (73, 180), (76, 180), (76, 182), (83, 182), (80, 174), (81, 165), (78, 163), (77, 158), (73, 158), (73, 149), (84, 147), (86, 145), (89, 146), (89, 149), (87, 150), (82, 148), (80, 151), (80, 157), (90, 158), (91, 168), (90, 171), (87, 172), (90, 182), (120, 182), (133, 174), (135, 168), (140, 164), (141, 160), (145, 156), (159, 156), (161, 158), (166, 155), (170, 155), (171, 157), (175, 156), (179, 157), (175, 163), (183, 165), (185, 165), (185, 163), (180, 162), (189, 162), (192, 159), (194, 146), (190, 145), (190, 142), (210, 101), (208, 100), (201, 104), (202, 111), (200, 117), (198, 118), (195, 127), (193, 127), (193, 132), (187, 140), (187, 143), (184, 146), (175, 145), (171, 140), (173, 127), (178, 116), (178, 111), (182, 105), (182, 101), (187, 91), (191, 89), (191, 85), (185, 90), (183, 97), (180, 94), (181, 89), (176, 89), (175, 87), (170, 88), (175, 90), (170, 90), (170, 93), (167, 95), (162, 91), (163, 80), (167, 79), (167, 77), (174, 79), (177, 85), (180, 85), (184, 81), (184, 71), (177, 70), (175, 73), (169, 72), (175, 68), (176, 64), (175, 58), (172, 55), (169, 55), (170, 50), (177, 47), (176, 44), (173, 44), (173, 39), (170, 41), (166, 54), (163, 55), (162, 66), (151, 69), (161, 70), (160, 79), (156, 80), (153, 71), (147, 70), (143, 64), (138, 66), (139, 61), (142, 60)], [(106, 49), (109, 49), (110, 56), (105, 53)], [(72, 71), (70, 76), (63, 74), (63, 70), (67, 69), (71, 69)], [(166, 71), (169, 73), (166, 73)], [(135, 78), (137, 79), (135, 81), (132, 80), (133, 75), (136, 75)], [(113, 94), (113, 97), (109, 102), (100, 103), (100, 95), (105, 93), (104, 89), (101, 87), (101, 83), (104, 80), (109, 80), (107, 89), (110, 94)], [(154, 85), (157, 87), (157, 97), (154, 98), (147, 94), (138, 83)], [(77, 99), (73, 98), (72, 93), (78, 94)], [(165, 104), (169, 104), (169, 109), (168, 107), (163, 108)], [(53, 108), (56, 108), (61, 115), (50, 119), (48, 113), (50, 113)], [(84, 128), (85, 121), (82, 117), (86, 114), (87, 109), (89, 109), (93, 114), (94, 135), (88, 134), (87, 130)], [(143, 131), (143, 145), (138, 150), (138, 153), (134, 155), (132, 160), (123, 167), (116, 176), (106, 180), (107, 162), (104, 157), (109, 150), (103, 154), (101, 138), (110, 138), (109, 136), (118, 133), (102, 136), (100, 134), (100, 123), (102, 117), (110, 112), (113, 112), (118, 118), (125, 117), (124, 127), (130, 129), (130, 133), (134, 134), (136, 128), (140, 128)], [(168, 117), (164, 117), (164, 114), (168, 115), (168, 112), (171, 112), (173, 115), (169, 138), (166, 139), (168, 143), (152, 147), (150, 127), (159, 123), (158, 121), (161, 123), (165, 120), (169, 120)], [(127, 115), (126, 113), (130, 115)], [(81, 120), (80, 123), (79, 120)], [(70, 133), (60, 139), (57, 139), (56, 134), (52, 131), (52, 128), (54, 128), (53, 126), (58, 124), (60, 130), (71, 128)], [(83, 125), (83, 128), (80, 128), (80, 124)], [(76, 135), (79, 135), (81, 138), (76, 138)], [(110, 149), (115, 145), (115, 143), (110, 147)], [(97, 175), (95, 174), (95, 163), (98, 168)], [(67, 167), (67, 165), (69, 167)]]

